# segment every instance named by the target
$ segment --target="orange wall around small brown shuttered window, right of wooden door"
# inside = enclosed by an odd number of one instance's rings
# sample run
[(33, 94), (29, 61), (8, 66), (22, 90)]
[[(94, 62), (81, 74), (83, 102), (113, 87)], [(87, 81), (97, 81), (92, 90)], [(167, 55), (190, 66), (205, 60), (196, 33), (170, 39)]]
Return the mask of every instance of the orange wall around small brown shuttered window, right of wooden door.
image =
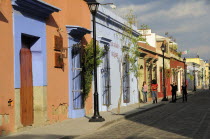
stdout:
[[(53, 13), (47, 19), (47, 101), (48, 118), (51, 123), (68, 117), (68, 108), (59, 114), (53, 114), (53, 111), (59, 109), (60, 106), (68, 106), (69, 104), (68, 59), (64, 59), (64, 71), (54, 68), (54, 35), (62, 36), (63, 47), (68, 47), (66, 25), (76, 25), (90, 29), (91, 19), (88, 6), (83, 0), (44, 1), (62, 10)], [(86, 35), (85, 38), (89, 41), (91, 36)], [(91, 98), (87, 102), (92, 104), (90, 101), (92, 101)], [(87, 111), (89, 111), (89, 108), (90, 106), (87, 107)]]

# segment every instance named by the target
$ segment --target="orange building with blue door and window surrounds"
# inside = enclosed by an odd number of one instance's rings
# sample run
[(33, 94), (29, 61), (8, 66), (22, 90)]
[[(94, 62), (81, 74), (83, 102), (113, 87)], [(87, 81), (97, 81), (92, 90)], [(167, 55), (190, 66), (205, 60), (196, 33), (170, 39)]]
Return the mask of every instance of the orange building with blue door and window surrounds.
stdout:
[[(83, 0), (0, 1), (0, 134), (92, 112), (82, 102), (80, 52), (90, 39)], [(90, 95), (92, 96), (92, 95)]]

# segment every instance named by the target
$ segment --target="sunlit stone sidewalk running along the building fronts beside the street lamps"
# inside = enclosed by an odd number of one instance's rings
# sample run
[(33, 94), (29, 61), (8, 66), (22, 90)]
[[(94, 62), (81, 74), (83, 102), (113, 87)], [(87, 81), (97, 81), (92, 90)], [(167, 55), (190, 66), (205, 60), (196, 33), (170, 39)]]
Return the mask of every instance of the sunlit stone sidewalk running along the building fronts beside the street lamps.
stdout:
[[(189, 94), (193, 94), (189, 91)], [(181, 96), (178, 96), (178, 99)], [(128, 106), (121, 107), (121, 113), (117, 114), (117, 109), (113, 109), (107, 112), (100, 112), (100, 115), (105, 118), (104, 122), (96, 122), (90, 123), (88, 122), (92, 115), (88, 115), (82, 118), (76, 119), (67, 119), (60, 123), (55, 123), (52, 125), (42, 126), (42, 127), (31, 127), (25, 131), (20, 131), (18, 133), (13, 133), (6, 137), (1, 137), (2, 139), (58, 139), (58, 138), (74, 138), (81, 135), (90, 134), (91, 132), (96, 131), (97, 129), (108, 126), (116, 121), (119, 121), (124, 118), (129, 118), (135, 116), (136, 114), (161, 107), (167, 102), (161, 102), (161, 99), (158, 100), (157, 104), (152, 104), (152, 102), (148, 103), (140, 103), (140, 104), (132, 104)]]

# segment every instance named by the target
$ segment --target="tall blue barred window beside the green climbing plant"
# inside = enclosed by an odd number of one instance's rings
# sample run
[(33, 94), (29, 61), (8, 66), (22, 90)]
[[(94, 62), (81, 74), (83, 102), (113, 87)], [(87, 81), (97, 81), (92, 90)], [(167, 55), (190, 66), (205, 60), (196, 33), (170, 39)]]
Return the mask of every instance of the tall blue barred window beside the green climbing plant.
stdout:
[(84, 117), (81, 45), (73, 40), (70, 40), (69, 70), (69, 118)]

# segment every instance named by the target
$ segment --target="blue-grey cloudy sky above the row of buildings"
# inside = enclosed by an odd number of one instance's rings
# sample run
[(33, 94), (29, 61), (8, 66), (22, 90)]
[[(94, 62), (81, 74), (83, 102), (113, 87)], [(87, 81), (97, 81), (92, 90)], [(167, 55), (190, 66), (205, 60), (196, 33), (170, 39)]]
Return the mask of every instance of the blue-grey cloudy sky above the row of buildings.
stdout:
[[(98, 0), (114, 3), (118, 15), (133, 10), (138, 27), (148, 25), (153, 33), (176, 39), (182, 57), (210, 59), (210, 0)], [(107, 8), (109, 6), (106, 6)]]

